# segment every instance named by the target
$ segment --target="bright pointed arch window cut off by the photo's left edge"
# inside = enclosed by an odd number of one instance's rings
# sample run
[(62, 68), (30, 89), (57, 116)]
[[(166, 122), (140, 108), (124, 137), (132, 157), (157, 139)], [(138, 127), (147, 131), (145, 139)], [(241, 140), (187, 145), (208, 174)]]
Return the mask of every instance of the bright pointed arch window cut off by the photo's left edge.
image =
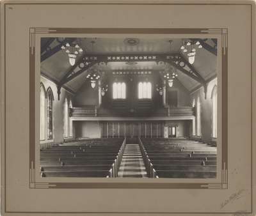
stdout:
[(45, 139), (45, 88), (40, 86), (40, 140)]

